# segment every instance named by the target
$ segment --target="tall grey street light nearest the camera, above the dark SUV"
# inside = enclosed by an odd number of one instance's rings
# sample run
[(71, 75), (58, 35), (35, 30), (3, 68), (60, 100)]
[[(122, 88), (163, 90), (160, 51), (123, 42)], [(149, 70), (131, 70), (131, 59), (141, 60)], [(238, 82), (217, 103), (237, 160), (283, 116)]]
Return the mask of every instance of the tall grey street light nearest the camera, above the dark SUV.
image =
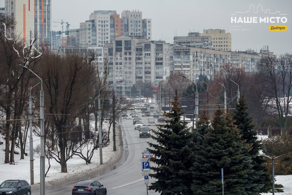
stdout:
[(40, 95), (40, 123), (41, 123), (41, 156), (40, 156), (40, 171), (41, 171), (41, 178), (40, 178), (40, 184), (41, 184), (41, 195), (45, 195), (45, 131), (44, 131), (44, 90), (43, 90), (43, 80), (36, 75), (32, 70), (30, 70), (26, 66), (22, 66), (26, 70), (29, 70), (31, 73), (33, 73), (36, 77), (38, 77), (41, 80), (41, 91), (39, 93)]

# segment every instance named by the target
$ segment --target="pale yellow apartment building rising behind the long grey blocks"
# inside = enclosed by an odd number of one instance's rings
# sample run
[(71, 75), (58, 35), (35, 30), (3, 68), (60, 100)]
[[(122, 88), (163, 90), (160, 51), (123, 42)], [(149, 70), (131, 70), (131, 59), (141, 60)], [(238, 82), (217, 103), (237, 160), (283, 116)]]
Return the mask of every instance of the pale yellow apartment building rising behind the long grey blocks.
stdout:
[(200, 36), (212, 37), (212, 49), (231, 51), (231, 33), (226, 33), (224, 29), (204, 29)]

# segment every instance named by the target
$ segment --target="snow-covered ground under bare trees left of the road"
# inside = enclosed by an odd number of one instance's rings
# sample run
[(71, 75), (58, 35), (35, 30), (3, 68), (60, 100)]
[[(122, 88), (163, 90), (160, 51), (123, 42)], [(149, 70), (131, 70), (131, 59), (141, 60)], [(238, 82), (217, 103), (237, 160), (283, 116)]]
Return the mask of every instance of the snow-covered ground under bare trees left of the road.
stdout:
[[(91, 124), (91, 125), (94, 125)], [(103, 124), (103, 128), (108, 129), (107, 123)], [(116, 128), (118, 129), (118, 128)], [(94, 151), (94, 156), (91, 159), (91, 164), (86, 165), (85, 161), (79, 156), (73, 156), (73, 158), (67, 161), (67, 173), (61, 173), (61, 166), (54, 159), (50, 160), (51, 168), (47, 173), (46, 185), (54, 185), (56, 183), (65, 183), (66, 181), (75, 181), (81, 179), (85, 176), (89, 176), (90, 173), (98, 173), (101, 171), (114, 166), (123, 154), (121, 140), (121, 132), (116, 130), (116, 144), (117, 151), (113, 151), (113, 142), (112, 142), (113, 134), (110, 133), (110, 145), (102, 149), (103, 153), (103, 164), (99, 164), (99, 149)], [(37, 144), (40, 144), (38, 137), (34, 137), (34, 148)], [(29, 155), (24, 156), (23, 160), (20, 159), (20, 154), (14, 156), (15, 165), (4, 164), (4, 147), (5, 142), (0, 145), (0, 183), (7, 179), (25, 179), (30, 183), (30, 163), (29, 163)], [(20, 153), (18, 148), (15, 149)], [(26, 151), (29, 154), (29, 144), (26, 146)], [(36, 154), (35, 154), (36, 155)], [(46, 170), (49, 167), (48, 160), (46, 159)], [(40, 182), (40, 158), (34, 157), (34, 188), (39, 187)]]

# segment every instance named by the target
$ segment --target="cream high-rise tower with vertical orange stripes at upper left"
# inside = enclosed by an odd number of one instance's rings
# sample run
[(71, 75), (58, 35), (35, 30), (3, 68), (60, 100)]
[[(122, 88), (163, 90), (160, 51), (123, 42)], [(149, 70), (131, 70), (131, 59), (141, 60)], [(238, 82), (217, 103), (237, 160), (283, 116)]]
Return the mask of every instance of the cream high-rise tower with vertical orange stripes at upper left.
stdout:
[(5, 0), (5, 13), (16, 22), (10, 36), (24, 42), (38, 37), (36, 44), (51, 44), (51, 0)]

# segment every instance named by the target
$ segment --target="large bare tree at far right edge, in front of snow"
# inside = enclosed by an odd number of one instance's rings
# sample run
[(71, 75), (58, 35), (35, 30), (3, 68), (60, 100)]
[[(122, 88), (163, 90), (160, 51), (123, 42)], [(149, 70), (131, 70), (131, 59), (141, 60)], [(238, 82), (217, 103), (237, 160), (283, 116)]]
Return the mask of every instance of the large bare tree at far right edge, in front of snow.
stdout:
[[(291, 107), (291, 88), (292, 88), (292, 54), (283, 54), (280, 56), (263, 57), (258, 63), (258, 69), (261, 73), (261, 81), (265, 84), (266, 104), (269, 106), (270, 113), (281, 127), (281, 134), (289, 134), (286, 129), (286, 118), (290, 113)], [(275, 110), (276, 112), (271, 113)]]

